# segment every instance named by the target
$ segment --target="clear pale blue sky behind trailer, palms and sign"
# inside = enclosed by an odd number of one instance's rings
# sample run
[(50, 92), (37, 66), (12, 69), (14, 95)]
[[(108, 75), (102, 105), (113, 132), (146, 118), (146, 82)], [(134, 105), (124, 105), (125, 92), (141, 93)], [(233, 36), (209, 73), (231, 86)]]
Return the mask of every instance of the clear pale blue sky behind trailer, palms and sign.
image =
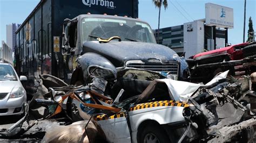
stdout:
[[(76, 0), (78, 1), (78, 0)], [(6, 24), (22, 23), (35, 8), (39, 0), (0, 0), (0, 40), (6, 41)], [(244, 0), (168, 0), (168, 8), (161, 11), (160, 28), (182, 25), (205, 18), (205, 3), (224, 5), (234, 10), (234, 28), (228, 31), (228, 42), (242, 42), (244, 24)], [(251, 16), (256, 31), (256, 1), (247, 0), (246, 37), (248, 19)], [(152, 0), (139, 0), (139, 18), (148, 22), (152, 28), (158, 26), (158, 9)]]

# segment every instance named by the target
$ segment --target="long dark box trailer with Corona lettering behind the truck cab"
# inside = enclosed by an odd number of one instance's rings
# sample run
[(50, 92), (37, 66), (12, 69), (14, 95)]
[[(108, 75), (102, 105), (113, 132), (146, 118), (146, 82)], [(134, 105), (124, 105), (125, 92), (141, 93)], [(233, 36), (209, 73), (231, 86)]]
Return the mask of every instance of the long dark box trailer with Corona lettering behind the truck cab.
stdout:
[(28, 77), (28, 94), (41, 74), (70, 80), (75, 60), (62, 55), (63, 23), (86, 13), (138, 18), (138, 0), (41, 0), (16, 31), (15, 69)]

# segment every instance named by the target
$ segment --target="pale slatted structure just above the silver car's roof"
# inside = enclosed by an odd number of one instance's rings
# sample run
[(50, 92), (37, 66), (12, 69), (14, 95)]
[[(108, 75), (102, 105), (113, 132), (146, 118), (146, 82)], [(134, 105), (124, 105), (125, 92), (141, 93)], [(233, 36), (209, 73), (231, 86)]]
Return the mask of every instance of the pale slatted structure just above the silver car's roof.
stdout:
[(0, 50), (0, 53), (2, 53), (1, 62), (12, 64), (12, 49), (4, 41), (2, 41), (2, 50)]

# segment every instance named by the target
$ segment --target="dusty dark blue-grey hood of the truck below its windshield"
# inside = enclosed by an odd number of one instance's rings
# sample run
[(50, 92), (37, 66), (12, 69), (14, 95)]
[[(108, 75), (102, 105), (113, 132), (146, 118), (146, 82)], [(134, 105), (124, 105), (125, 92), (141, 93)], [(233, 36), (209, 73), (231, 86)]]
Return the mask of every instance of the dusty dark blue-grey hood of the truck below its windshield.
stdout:
[(83, 54), (87, 52), (109, 56), (118, 61), (159, 59), (165, 62), (175, 60), (173, 55), (177, 54), (163, 45), (132, 41), (88, 41), (83, 44)]

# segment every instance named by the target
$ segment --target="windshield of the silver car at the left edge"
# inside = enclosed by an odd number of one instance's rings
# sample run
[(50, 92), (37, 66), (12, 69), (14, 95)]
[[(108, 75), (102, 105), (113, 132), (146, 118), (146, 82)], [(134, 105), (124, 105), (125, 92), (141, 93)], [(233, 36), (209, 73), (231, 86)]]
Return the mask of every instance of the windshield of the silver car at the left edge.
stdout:
[(11, 66), (0, 65), (0, 81), (17, 81), (17, 77)]

